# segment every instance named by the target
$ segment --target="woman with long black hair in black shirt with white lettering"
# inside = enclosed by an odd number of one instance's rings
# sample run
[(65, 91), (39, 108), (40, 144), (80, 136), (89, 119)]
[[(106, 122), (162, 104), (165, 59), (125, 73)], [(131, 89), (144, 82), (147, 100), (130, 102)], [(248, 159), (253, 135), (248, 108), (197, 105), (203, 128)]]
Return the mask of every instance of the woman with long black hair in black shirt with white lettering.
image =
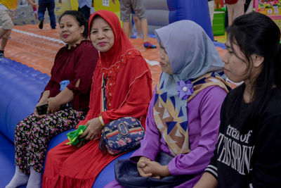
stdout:
[(214, 156), (195, 187), (280, 188), (280, 29), (268, 16), (249, 13), (226, 32), (225, 73), (244, 83), (223, 101)]

